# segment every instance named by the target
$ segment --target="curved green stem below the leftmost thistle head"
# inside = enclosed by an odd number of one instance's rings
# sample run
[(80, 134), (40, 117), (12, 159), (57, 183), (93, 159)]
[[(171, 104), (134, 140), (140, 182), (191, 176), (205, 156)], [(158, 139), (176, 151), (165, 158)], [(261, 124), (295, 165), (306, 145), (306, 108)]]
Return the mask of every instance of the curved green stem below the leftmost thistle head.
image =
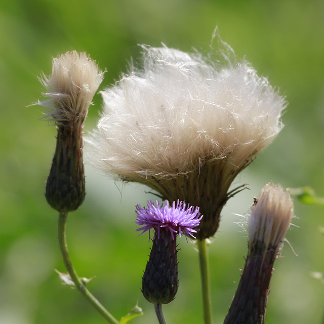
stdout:
[(65, 225), (66, 225), (67, 213), (60, 213), (58, 220), (58, 241), (61, 251), (61, 255), (64, 261), (65, 268), (70, 275), (72, 281), (74, 282), (75, 288), (83, 294), (86, 299), (92, 304), (98, 312), (111, 324), (118, 324), (118, 320), (115, 319), (102, 305), (101, 303), (90, 293), (90, 291), (82, 283), (78, 275), (76, 274), (73, 265), (71, 263), (67, 244), (66, 244), (66, 235), (65, 235)]

